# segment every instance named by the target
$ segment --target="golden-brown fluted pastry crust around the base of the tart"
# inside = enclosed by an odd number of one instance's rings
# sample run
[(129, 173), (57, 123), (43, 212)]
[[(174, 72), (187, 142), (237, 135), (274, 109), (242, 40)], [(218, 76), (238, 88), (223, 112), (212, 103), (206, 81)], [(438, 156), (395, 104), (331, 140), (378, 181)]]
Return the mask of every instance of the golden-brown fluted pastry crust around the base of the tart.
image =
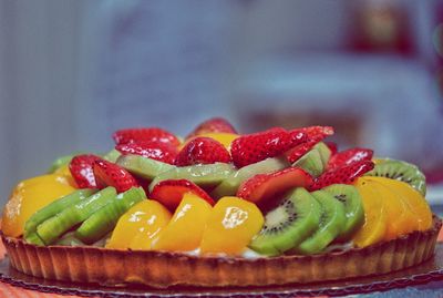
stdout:
[(441, 219), (434, 216), (429, 230), (364, 248), (255, 259), (87, 246), (42, 247), (4, 235), (2, 240), (14, 269), (45, 279), (155, 288), (246, 287), (337, 280), (411, 267), (432, 257), (441, 226)]

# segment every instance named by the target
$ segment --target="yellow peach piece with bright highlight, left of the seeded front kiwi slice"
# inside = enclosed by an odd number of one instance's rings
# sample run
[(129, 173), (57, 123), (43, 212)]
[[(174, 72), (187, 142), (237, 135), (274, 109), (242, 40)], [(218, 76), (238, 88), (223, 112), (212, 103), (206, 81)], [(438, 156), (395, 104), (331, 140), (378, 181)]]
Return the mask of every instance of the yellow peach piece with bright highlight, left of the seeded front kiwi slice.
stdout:
[(223, 197), (207, 219), (200, 250), (203, 254), (239, 255), (262, 224), (264, 217), (255, 204), (238, 197)]

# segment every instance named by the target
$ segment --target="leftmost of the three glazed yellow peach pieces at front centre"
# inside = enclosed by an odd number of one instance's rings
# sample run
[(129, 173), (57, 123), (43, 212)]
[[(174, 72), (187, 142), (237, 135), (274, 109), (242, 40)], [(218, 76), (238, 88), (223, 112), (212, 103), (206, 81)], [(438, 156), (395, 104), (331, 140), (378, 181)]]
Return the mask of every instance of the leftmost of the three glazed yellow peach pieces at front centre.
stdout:
[(106, 248), (151, 249), (151, 243), (171, 220), (171, 213), (158, 202), (145, 199), (122, 215)]

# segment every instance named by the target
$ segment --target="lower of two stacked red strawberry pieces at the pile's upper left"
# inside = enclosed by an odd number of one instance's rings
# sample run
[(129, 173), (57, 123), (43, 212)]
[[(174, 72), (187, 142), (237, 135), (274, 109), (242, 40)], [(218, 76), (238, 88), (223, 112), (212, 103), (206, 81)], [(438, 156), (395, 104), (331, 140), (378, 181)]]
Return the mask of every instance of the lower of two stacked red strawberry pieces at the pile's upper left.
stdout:
[(178, 153), (176, 146), (162, 142), (132, 142), (116, 145), (115, 148), (124, 155), (136, 154), (168, 164), (174, 164)]

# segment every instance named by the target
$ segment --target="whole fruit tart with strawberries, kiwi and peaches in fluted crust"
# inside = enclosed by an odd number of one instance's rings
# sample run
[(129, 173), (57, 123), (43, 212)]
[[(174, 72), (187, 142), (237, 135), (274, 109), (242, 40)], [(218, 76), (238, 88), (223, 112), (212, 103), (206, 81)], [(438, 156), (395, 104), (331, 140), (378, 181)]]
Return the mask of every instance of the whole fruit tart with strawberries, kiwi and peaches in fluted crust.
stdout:
[(418, 265), (441, 222), (422, 172), (338, 151), (330, 126), (239, 134), (210, 119), (185, 140), (116, 131), (107, 154), (58, 158), (19, 183), (2, 217), (11, 266), (106, 286), (246, 287)]

